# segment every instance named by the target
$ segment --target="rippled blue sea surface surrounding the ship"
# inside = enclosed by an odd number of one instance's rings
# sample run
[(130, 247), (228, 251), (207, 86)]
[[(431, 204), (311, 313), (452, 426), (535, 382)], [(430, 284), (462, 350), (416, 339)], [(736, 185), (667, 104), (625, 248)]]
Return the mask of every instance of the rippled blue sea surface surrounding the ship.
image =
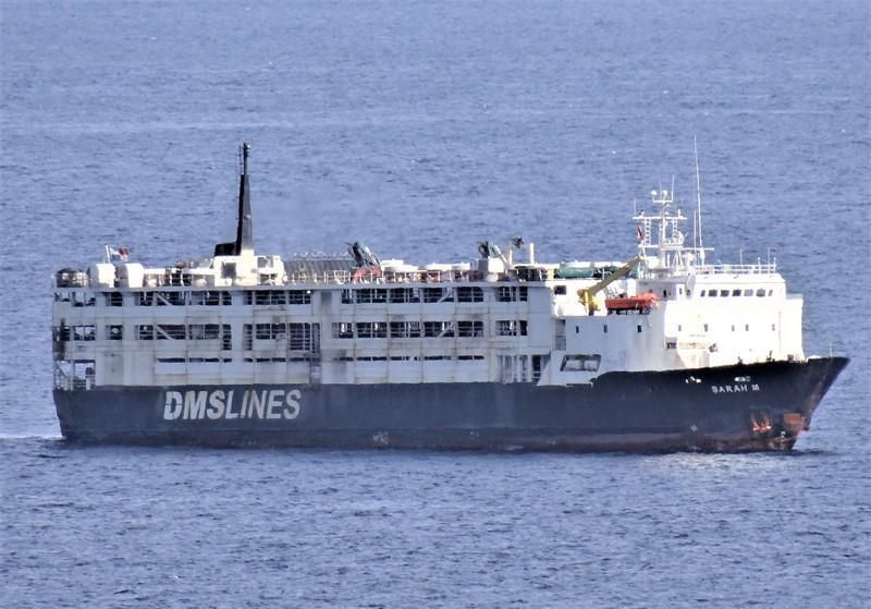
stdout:
[[(868, 607), (864, 1), (0, 0), (0, 606)], [(105, 244), (625, 259), (695, 203), (852, 357), (792, 454), (82, 448), (52, 271)]]

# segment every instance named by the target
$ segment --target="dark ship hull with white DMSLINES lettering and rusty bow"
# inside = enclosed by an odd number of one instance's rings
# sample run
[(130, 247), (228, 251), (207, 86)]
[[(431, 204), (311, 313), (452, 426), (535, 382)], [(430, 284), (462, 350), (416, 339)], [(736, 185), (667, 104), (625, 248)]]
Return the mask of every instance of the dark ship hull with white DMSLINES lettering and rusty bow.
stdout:
[(95, 387), (54, 391), (88, 443), (536, 451), (786, 451), (845, 357), (608, 373), (591, 385)]

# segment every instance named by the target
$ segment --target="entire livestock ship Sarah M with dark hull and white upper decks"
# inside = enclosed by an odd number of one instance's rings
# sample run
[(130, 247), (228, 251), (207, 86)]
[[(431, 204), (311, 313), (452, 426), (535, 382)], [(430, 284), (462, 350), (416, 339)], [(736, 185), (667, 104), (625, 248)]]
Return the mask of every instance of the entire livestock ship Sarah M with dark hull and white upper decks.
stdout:
[(285, 259), (255, 253), (248, 151), (213, 255), (150, 268), (107, 247), (53, 276), (68, 440), (786, 451), (847, 364), (805, 356), (775, 264), (706, 264), (673, 188), (636, 214), (628, 261), (541, 263), (520, 239), (458, 264), (358, 243)]

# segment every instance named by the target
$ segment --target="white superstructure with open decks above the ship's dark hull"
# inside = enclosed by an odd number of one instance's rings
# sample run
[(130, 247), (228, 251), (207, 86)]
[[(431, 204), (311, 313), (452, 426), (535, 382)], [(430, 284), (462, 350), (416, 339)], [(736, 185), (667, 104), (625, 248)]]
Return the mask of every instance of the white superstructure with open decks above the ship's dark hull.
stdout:
[(248, 226), (244, 247), (196, 263), (65, 269), (56, 386), (577, 385), (803, 360), (802, 301), (775, 265), (704, 264), (671, 194), (653, 203), (627, 266), (542, 264), (519, 240), (457, 264), (382, 263), (356, 244), (285, 260), (256, 254)]

